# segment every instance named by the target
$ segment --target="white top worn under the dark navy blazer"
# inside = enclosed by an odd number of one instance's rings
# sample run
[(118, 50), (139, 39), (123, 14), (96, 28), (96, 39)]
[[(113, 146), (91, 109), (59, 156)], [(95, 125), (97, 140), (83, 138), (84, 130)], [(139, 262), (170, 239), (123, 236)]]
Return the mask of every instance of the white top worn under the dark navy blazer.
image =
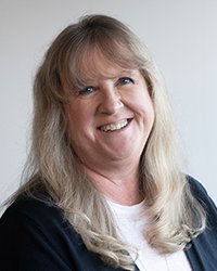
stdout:
[(141, 219), (144, 202), (133, 206), (124, 206), (106, 199), (114, 215), (117, 233), (120, 238), (138, 249), (138, 258), (130, 253), (140, 271), (192, 271), (183, 251), (161, 255), (153, 249), (143, 236), (146, 221)]

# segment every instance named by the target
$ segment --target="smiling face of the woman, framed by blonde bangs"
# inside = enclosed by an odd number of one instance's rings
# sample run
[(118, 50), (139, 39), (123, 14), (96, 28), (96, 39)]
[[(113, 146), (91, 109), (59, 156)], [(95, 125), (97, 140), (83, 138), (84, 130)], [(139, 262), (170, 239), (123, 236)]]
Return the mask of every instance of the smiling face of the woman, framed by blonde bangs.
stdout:
[[(85, 85), (65, 106), (68, 134), (82, 164), (93, 170), (139, 165), (154, 121), (148, 87), (137, 69), (102, 56), (82, 69)], [(65, 90), (69, 93), (69, 90)]]

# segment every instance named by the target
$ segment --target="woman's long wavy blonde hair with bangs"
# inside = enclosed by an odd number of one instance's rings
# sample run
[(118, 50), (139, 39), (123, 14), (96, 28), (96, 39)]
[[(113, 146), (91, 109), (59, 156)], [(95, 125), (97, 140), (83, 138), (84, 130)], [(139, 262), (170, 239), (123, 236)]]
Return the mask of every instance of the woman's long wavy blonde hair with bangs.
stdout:
[(178, 147), (164, 82), (148, 49), (119, 21), (89, 15), (66, 27), (52, 42), (34, 85), (33, 141), (22, 193), (42, 185), (89, 250), (110, 266), (133, 270), (130, 246), (117, 236), (111, 210), (85, 175), (67, 136), (64, 86), (79, 86), (81, 63), (97, 49), (111, 63), (138, 68), (153, 102), (155, 120), (140, 159), (139, 184), (145, 195), (144, 237), (162, 254), (183, 249), (205, 227), (202, 206), (191, 195)]

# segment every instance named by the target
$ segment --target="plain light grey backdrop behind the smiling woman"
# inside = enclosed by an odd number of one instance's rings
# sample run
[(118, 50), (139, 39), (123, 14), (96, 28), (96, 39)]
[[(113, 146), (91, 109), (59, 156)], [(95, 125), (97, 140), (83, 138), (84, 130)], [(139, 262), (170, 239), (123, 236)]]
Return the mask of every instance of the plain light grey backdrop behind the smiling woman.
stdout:
[(53, 37), (88, 13), (116, 16), (148, 44), (170, 93), (186, 170), (217, 202), (216, 0), (0, 0), (0, 203), (26, 158), (37, 65)]

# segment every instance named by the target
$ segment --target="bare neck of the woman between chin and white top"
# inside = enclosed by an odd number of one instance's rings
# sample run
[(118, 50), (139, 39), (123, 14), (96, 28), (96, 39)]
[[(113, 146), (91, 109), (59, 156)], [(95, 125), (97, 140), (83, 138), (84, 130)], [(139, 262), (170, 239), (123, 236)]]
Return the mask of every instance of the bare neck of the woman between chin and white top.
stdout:
[(97, 189), (106, 197), (120, 205), (135, 205), (143, 199), (139, 192), (138, 169), (125, 170), (118, 175), (101, 172), (85, 166), (87, 176)]

